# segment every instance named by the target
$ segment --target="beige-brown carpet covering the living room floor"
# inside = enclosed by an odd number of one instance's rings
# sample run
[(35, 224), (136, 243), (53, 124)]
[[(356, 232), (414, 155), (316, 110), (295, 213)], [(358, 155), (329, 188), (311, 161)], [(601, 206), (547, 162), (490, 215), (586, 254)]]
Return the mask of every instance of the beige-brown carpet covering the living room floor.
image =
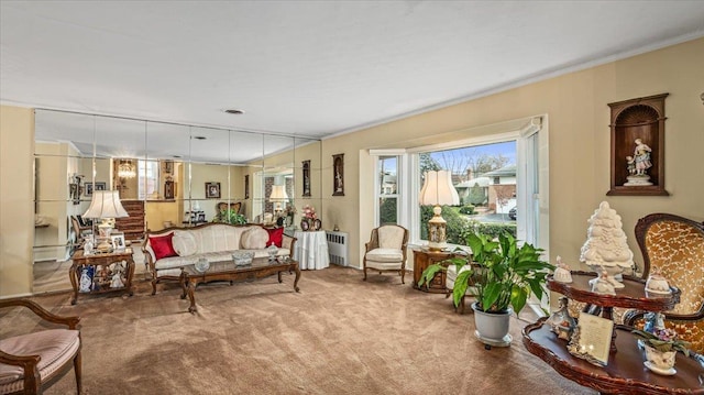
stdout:
[[(487, 351), (442, 295), (361, 278), (332, 266), (302, 272), (298, 294), (289, 275), (202, 285), (195, 315), (176, 285), (151, 296), (144, 281), (131, 298), (34, 299), (82, 318), (85, 394), (595, 394), (526, 351), (522, 321)], [(69, 373), (47, 394), (72, 391)]]

